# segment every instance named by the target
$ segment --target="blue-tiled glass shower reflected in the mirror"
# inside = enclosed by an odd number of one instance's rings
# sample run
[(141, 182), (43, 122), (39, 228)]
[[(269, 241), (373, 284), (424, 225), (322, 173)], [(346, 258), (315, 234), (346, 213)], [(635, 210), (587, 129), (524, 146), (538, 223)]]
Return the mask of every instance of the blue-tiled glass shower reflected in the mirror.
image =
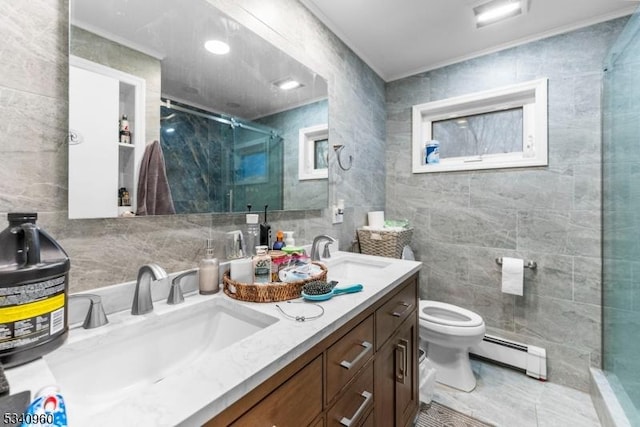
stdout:
[(276, 129), (177, 102), (160, 107), (160, 143), (176, 213), (245, 212), (283, 205)]

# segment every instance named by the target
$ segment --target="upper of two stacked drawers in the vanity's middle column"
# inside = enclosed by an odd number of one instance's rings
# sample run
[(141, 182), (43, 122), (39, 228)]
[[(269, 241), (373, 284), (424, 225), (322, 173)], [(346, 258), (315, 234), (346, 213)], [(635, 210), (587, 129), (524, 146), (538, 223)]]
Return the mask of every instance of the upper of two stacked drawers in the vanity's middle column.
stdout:
[(373, 356), (373, 315), (340, 338), (327, 351), (327, 403)]

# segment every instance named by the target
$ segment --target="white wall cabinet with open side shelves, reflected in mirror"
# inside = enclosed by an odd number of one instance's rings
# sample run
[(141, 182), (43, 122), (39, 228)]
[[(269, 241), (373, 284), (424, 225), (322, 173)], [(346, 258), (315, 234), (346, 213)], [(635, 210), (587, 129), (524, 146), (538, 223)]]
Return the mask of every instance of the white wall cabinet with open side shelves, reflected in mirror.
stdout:
[[(145, 80), (73, 55), (69, 74), (69, 218), (135, 211)], [(124, 117), (126, 138), (120, 132)]]

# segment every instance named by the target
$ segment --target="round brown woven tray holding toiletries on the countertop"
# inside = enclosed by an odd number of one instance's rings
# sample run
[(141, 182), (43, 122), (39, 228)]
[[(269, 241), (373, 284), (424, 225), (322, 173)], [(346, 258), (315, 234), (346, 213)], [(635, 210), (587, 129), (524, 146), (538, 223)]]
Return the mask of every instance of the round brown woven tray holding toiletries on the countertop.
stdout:
[[(224, 293), (231, 298), (241, 301), (251, 302), (276, 302), (300, 297), (302, 287), (314, 280), (327, 280), (327, 267), (314, 262), (320, 266), (322, 272), (305, 280), (296, 282), (271, 282), (271, 283), (240, 283), (231, 280), (229, 271), (225, 271), (222, 276)], [(235, 292), (232, 292), (235, 289)]]

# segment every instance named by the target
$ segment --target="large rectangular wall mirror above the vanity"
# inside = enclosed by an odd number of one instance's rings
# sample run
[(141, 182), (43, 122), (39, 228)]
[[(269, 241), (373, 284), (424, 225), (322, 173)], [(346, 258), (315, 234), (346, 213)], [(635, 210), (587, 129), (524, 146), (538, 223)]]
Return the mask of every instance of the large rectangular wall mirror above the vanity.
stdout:
[(298, 165), (322, 76), (206, 0), (70, 9), (70, 218), (327, 207)]

